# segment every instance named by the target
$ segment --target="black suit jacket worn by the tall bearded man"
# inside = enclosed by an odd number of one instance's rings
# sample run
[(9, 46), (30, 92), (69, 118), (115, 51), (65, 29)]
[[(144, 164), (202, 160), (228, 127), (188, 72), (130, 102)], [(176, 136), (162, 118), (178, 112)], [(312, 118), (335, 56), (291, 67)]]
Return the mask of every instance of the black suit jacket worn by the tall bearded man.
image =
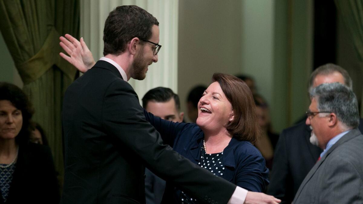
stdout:
[(109, 62), (98, 61), (68, 87), (62, 122), (63, 204), (145, 203), (144, 165), (205, 202), (227, 203), (236, 188), (163, 145)]

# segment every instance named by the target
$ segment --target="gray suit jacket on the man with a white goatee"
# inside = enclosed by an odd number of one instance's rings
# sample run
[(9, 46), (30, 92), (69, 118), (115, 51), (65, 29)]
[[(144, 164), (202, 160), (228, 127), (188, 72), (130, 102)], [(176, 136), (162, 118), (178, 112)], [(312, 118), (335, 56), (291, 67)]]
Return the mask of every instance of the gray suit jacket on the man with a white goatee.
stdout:
[(362, 158), (363, 135), (353, 129), (314, 165), (293, 203), (363, 203)]

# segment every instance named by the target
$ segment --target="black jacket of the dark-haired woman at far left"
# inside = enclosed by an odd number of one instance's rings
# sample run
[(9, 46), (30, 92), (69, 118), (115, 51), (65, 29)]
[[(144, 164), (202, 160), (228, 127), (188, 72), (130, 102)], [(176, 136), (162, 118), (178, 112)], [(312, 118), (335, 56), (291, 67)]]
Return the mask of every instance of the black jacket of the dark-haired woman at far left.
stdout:
[[(6, 204), (58, 204), (59, 188), (49, 147), (19, 144), (13, 180)], [(0, 197), (0, 204), (3, 199)]]

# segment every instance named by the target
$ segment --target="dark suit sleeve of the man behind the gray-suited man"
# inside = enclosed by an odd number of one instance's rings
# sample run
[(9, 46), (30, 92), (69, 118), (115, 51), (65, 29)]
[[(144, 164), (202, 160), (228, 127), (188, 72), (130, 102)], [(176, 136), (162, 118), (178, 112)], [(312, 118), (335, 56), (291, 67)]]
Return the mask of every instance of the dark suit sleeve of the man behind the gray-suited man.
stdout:
[[(282, 131), (274, 154), (273, 166), (267, 194), (281, 199), (281, 203), (291, 203), (293, 197), (289, 160), (287, 155), (286, 131)], [(290, 186), (290, 187), (288, 187)]]

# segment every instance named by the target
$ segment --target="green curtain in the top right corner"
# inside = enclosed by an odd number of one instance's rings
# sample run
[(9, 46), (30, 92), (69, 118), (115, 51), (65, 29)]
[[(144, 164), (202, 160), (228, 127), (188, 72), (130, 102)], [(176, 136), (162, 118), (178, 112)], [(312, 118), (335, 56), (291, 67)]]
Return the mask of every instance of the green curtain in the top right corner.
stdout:
[[(335, 5), (350, 33), (360, 61), (360, 69), (363, 69), (363, 0), (335, 0)], [(361, 101), (360, 115), (363, 116), (363, 100)]]

